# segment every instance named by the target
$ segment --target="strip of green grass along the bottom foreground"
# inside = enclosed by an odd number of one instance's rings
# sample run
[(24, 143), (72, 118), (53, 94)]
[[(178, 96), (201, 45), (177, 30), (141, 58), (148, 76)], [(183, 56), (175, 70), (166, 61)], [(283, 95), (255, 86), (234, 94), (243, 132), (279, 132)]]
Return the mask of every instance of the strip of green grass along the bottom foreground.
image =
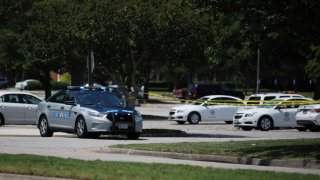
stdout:
[(202, 168), (189, 165), (84, 161), (35, 155), (0, 154), (0, 172), (72, 179), (156, 180), (312, 180), (316, 175), (253, 170)]

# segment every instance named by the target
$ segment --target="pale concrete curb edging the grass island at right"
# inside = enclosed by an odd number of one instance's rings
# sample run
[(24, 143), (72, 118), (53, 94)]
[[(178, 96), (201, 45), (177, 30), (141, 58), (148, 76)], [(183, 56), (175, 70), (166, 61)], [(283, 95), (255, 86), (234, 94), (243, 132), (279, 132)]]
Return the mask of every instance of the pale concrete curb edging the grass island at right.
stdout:
[(184, 154), (184, 153), (160, 152), (160, 151), (143, 151), (143, 150), (108, 148), (108, 147), (101, 147), (99, 149), (95, 149), (94, 151), (100, 152), (100, 153), (155, 156), (155, 157), (165, 157), (165, 158), (172, 158), (172, 159), (221, 162), (221, 163), (231, 163), (231, 164), (245, 164), (245, 165), (256, 165), (256, 166), (279, 166), (279, 167), (291, 167), (291, 168), (320, 169), (320, 161), (319, 160), (259, 159), (259, 158), (247, 158), (247, 157), (235, 157), (235, 156), (218, 156), (218, 155)]

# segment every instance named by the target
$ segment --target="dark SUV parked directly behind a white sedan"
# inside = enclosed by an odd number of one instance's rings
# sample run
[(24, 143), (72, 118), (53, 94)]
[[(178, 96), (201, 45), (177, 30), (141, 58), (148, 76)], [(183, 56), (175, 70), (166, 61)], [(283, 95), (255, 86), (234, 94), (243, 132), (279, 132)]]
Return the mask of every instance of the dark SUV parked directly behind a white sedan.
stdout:
[(207, 95), (228, 95), (244, 99), (241, 91), (236, 91), (219, 84), (189, 84), (187, 99), (198, 99)]

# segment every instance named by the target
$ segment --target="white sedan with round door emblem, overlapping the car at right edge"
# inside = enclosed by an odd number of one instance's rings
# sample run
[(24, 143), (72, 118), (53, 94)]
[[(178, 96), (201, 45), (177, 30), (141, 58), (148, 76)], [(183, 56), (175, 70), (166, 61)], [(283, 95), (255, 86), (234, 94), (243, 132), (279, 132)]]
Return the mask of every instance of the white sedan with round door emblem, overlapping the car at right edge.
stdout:
[(265, 102), (257, 108), (241, 110), (235, 113), (233, 124), (245, 131), (253, 128), (262, 131), (273, 128), (297, 128), (305, 130), (296, 123), (296, 114), (299, 105), (310, 101), (307, 98), (278, 98)]

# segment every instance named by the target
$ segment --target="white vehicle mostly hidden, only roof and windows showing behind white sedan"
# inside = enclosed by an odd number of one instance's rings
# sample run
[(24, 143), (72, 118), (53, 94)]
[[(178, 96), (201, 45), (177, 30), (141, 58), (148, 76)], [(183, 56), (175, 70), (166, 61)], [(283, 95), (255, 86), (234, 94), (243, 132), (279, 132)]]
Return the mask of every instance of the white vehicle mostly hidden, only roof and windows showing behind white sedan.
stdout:
[(305, 98), (305, 97), (300, 94), (285, 94), (285, 93), (252, 94), (251, 96), (249, 96), (247, 104), (261, 105), (264, 102), (267, 102), (273, 99), (278, 99), (278, 98)]

